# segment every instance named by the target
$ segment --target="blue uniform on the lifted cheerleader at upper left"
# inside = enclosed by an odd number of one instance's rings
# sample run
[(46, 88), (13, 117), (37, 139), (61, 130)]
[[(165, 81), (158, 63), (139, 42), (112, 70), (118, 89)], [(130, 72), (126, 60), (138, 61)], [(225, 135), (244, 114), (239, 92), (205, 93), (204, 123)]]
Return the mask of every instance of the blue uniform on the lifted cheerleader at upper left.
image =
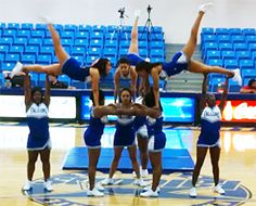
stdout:
[(74, 59), (68, 57), (62, 66), (62, 73), (67, 75), (71, 79), (88, 82), (90, 78), (90, 67), (81, 67), (80, 63)]

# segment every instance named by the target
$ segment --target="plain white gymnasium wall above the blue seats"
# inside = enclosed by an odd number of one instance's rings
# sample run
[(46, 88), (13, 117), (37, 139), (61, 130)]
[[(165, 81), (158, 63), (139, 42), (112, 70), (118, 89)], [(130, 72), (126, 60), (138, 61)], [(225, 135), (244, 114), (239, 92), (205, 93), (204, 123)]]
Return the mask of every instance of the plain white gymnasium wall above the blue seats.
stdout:
[[(210, 0), (209, 0), (210, 1)], [(148, 18), (146, 8), (153, 8), (153, 25), (165, 30), (167, 43), (184, 43), (203, 0), (0, 0), (0, 22), (39, 23), (39, 16), (51, 16), (61, 24), (119, 25), (120, 8), (124, 23), (131, 25), (133, 11), (142, 11), (140, 25)], [(212, 0), (214, 7), (205, 15), (205, 27), (256, 27), (255, 0)]]

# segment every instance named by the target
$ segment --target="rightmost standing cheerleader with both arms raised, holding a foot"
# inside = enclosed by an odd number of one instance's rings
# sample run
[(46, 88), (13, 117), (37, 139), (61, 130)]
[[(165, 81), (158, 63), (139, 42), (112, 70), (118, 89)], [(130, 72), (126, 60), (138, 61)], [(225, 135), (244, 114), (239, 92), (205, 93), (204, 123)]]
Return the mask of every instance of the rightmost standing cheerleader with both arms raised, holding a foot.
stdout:
[(221, 114), (226, 104), (227, 93), (228, 93), (228, 79), (226, 77), (225, 88), (221, 95), (219, 106), (216, 105), (216, 99), (214, 94), (206, 93), (207, 91), (207, 74), (204, 75), (204, 80), (202, 85), (202, 102), (201, 102), (201, 133), (197, 140), (196, 147), (196, 163), (192, 177), (192, 188), (190, 190), (190, 196), (196, 197), (195, 184), (200, 176), (201, 168), (204, 164), (205, 156), (209, 149), (210, 159), (213, 165), (214, 191), (219, 194), (225, 194), (225, 190), (219, 184), (219, 157), (220, 157), (220, 125), (221, 125)]

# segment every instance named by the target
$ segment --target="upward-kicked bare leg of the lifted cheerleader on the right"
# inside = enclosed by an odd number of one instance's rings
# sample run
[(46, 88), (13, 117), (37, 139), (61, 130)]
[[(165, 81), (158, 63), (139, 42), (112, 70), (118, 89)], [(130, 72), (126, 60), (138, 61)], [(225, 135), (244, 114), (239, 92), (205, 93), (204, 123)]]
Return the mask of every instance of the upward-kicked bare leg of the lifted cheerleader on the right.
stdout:
[(182, 52), (184, 52), (189, 59), (191, 59), (191, 56), (193, 55), (194, 50), (196, 48), (200, 23), (201, 23), (203, 16), (204, 16), (204, 12), (200, 11), (199, 15), (195, 18), (195, 22), (191, 28), (189, 41), (182, 48)]

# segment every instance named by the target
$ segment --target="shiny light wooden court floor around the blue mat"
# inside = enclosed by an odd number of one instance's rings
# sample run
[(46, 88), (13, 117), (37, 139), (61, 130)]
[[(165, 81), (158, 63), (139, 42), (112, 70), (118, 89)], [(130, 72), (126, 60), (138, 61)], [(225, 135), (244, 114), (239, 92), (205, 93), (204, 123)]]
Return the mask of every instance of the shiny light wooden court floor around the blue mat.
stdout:
[[(82, 186), (77, 186), (76, 184), (56, 184), (54, 186), (54, 195), (60, 195), (59, 202), (43, 202), (43, 194), (38, 194), (31, 201), (28, 196), (24, 195), (21, 191), (24, 182), (26, 181), (26, 163), (27, 153), (25, 150), (27, 128), (25, 126), (18, 126), (12, 123), (0, 123), (0, 205), (145, 205), (145, 206), (156, 206), (156, 205), (256, 205), (256, 128), (222, 128), (221, 130), (221, 158), (220, 158), (220, 178), (227, 182), (227, 185), (235, 183), (232, 190), (238, 190), (238, 196), (227, 195), (225, 198), (218, 198), (214, 194), (208, 185), (208, 180), (212, 181), (212, 166), (209, 162), (209, 155), (205, 160), (203, 169), (201, 171), (202, 179), (199, 184), (206, 185), (199, 188), (199, 198), (190, 198), (188, 195), (191, 173), (171, 173), (163, 176), (163, 180), (168, 182), (169, 180), (182, 179), (185, 180), (183, 189), (177, 188), (177, 190), (170, 190), (164, 188), (164, 197), (159, 198), (141, 198), (136, 195), (136, 192), (130, 194), (124, 194), (125, 191), (136, 191), (132, 185), (128, 184), (126, 189), (107, 189), (107, 195), (102, 198), (88, 198), (82, 193)], [(53, 150), (51, 153), (51, 172), (52, 176), (56, 178), (64, 177), (65, 173), (73, 175), (76, 177), (81, 177), (85, 175), (77, 173), (77, 171), (65, 171), (62, 170), (62, 163), (65, 158), (67, 152), (74, 146), (84, 145), (82, 143), (82, 132), (84, 128), (69, 127), (69, 126), (51, 126), (51, 137)], [(174, 133), (179, 136), (182, 141), (182, 146), (187, 147), (193, 159), (195, 160), (195, 144), (199, 134), (199, 128), (189, 129), (175, 128)], [(110, 137), (102, 143), (103, 146), (111, 145)], [(167, 146), (170, 143), (167, 142)], [(174, 145), (175, 146), (175, 145)], [(37, 163), (36, 172), (34, 176), (35, 180), (42, 179), (41, 164)], [(79, 171), (78, 171), (79, 172)], [(74, 175), (75, 173), (75, 175)], [(104, 178), (106, 175), (98, 173), (98, 177)], [(115, 178), (131, 179), (131, 175), (120, 175), (117, 173)], [(150, 177), (149, 177), (150, 180)], [(203, 184), (205, 182), (206, 184)], [(202, 183), (203, 182), (203, 183)], [(166, 184), (167, 185), (167, 184)], [(181, 189), (181, 190), (180, 190)], [(81, 194), (79, 196), (73, 196), (74, 192), (80, 190)], [(114, 191), (110, 193), (110, 191)], [(115, 193), (115, 191), (117, 191)], [(120, 191), (120, 193), (118, 193)], [(245, 191), (245, 192), (244, 192)], [(242, 195), (242, 192), (244, 194)], [(241, 197), (241, 195), (242, 197)], [(55, 196), (48, 196), (48, 198), (55, 198)], [(37, 198), (38, 197), (38, 198)], [(39, 201), (38, 201), (39, 199)], [(62, 199), (62, 201), (60, 201)], [(66, 202), (65, 202), (66, 201)], [(50, 202), (49, 202), (50, 203)]]

